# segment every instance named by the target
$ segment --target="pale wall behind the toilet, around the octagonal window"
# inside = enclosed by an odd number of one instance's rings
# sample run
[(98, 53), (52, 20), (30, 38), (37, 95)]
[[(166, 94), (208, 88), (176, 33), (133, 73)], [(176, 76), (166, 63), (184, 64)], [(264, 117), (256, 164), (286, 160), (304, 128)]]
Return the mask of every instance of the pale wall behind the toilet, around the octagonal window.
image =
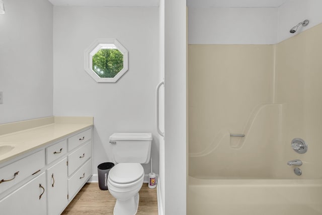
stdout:
[[(84, 51), (97, 38), (116, 38), (129, 52), (116, 83), (97, 83), (84, 69)], [(111, 161), (114, 132), (151, 132), (158, 173), (158, 45), (158, 8), (54, 7), (54, 115), (94, 116), (94, 174)]]

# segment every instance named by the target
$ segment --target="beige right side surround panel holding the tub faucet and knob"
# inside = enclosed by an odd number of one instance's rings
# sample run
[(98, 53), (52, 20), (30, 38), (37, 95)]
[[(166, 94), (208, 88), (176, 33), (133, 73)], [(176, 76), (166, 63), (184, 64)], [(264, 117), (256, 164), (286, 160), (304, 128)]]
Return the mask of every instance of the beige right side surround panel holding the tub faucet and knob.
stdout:
[[(302, 178), (322, 178), (320, 133), (322, 130), (322, 24), (276, 45), (276, 102), (283, 103), (282, 166), (280, 174), (293, 171), (284, 165), (301, 159)], [(291, 148), (291, 140), (303, 138), (305, 154)]]

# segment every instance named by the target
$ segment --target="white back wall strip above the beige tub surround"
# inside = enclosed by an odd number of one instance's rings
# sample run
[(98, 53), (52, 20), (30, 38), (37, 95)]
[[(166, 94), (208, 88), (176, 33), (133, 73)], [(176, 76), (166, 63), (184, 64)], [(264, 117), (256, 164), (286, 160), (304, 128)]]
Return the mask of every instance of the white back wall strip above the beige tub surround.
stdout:
[(189, 44), (275, 44), (277, 8), (189, 8)]

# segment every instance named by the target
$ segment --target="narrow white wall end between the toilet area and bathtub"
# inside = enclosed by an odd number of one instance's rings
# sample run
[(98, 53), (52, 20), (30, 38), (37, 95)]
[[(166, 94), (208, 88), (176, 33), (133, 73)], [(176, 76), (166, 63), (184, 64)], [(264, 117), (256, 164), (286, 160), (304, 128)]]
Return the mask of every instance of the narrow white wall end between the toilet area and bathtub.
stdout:
[(186, 214), (186, 0), (165, 0), (165, 214)]

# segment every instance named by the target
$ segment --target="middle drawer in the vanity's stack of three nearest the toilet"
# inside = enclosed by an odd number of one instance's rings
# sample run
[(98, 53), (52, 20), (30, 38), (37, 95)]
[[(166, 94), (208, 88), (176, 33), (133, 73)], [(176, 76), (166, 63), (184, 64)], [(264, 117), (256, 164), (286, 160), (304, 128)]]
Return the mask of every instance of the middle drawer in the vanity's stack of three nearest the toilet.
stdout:
[(92, 156), (92, 142), (68, 155), (68, 176)]

